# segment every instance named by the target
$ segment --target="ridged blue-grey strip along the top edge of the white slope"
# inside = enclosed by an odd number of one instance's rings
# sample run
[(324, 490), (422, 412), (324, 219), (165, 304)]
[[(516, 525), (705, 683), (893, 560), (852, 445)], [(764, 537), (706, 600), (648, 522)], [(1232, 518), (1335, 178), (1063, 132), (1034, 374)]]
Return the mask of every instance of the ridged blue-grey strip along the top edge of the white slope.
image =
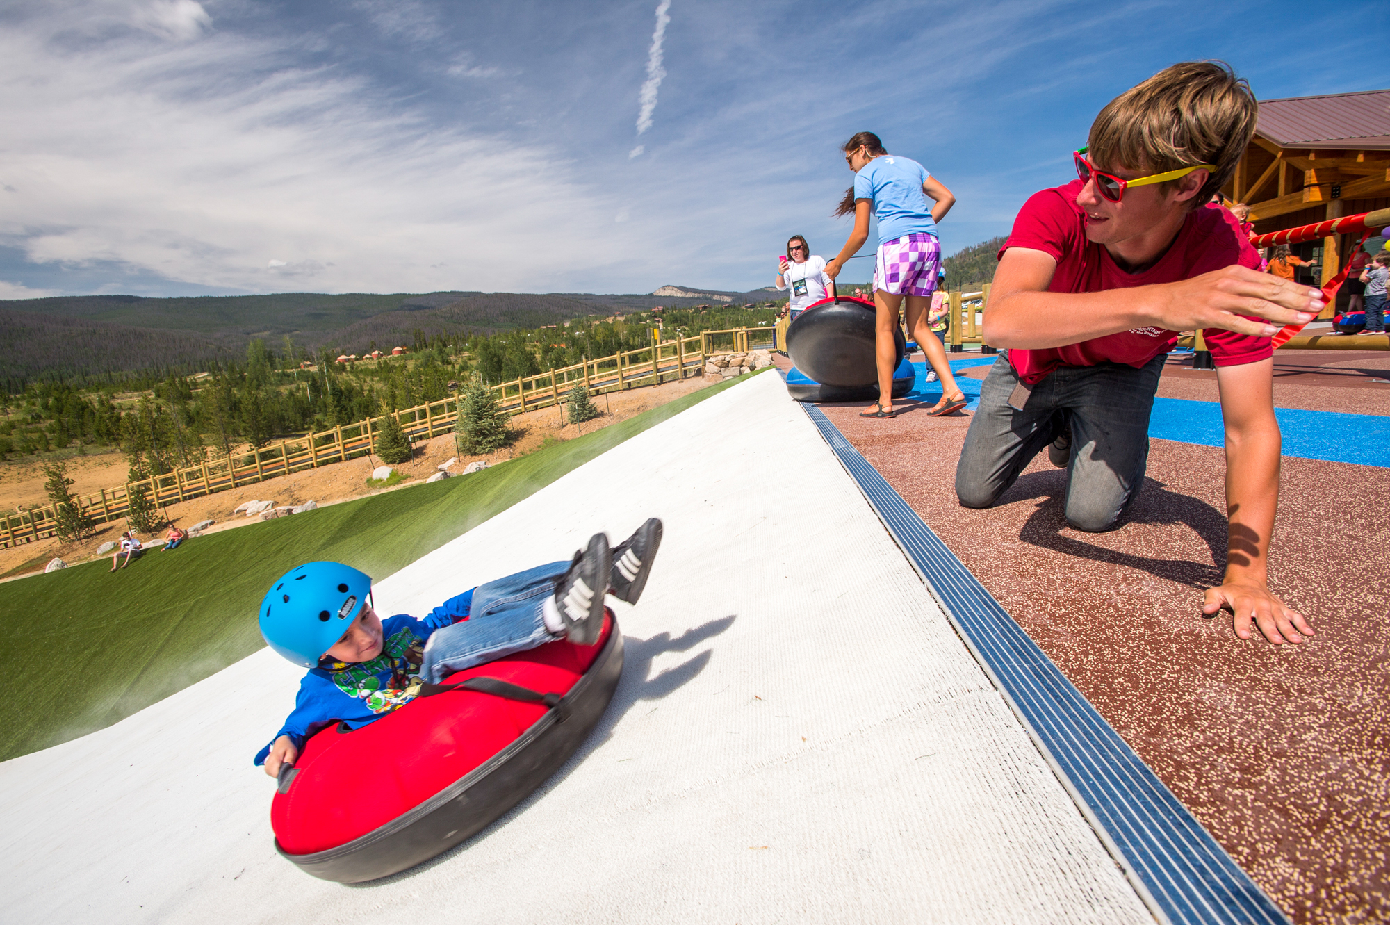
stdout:
[(1287, 925), (1273, 901), (824, 412), (802, 407), (1155, 917), (1182, 925)]

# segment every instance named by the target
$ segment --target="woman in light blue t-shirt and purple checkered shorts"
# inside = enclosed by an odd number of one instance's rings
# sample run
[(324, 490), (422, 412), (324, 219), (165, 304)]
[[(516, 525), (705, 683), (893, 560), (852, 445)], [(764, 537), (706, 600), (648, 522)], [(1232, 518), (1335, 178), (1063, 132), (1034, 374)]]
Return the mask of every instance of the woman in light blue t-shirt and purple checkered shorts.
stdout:
[[(942, 415), (965, 407), (965, 393), (951, 375), (951, 364), (941, 342), (931, 333), (927, 311), (931, 293), (937, 288), (941, 268), (941, 244), (937, 222), (955, 206), (955, 196), (927, 169), (906, 157), (888, 154), (873, 132), (859, 132), (844, 144), (845, 162), (855, 172), (855, 185), (835, 215), (855, 215), (855, 229), (840, 250), (840, 256), (826, 265), (826, 275), (834, 279), (845, 261), (869, 240), (869, 217), (878, 218), (878, 253), (874, 260), (873, 300), (878, 310), (874, 347), (878, 365), (878, 403), (865, 418), (891, 418), (892, 368), (897, 360), (894, 329), (898, 310), (908, 301), (908, 333), (917, 342), (927, 362), (941, 379), (941, 400), (927, 414)], [(927, 206), (927, 200), (933, 206)]]

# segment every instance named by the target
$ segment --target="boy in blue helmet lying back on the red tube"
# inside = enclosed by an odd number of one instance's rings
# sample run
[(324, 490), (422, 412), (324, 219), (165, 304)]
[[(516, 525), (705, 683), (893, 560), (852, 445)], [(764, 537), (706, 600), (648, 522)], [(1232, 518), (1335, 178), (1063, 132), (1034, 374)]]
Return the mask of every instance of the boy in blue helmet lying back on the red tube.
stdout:
[(278, 776), (324, 726), (342, 721), (359, 729), (410, 703), (423, 683), (556, 639), (594, 644), (605, 593), (635, 604), (660, 543), (655, 517), (613, 550), (595, 533), (573, 561), (478, 585), (424, 619), (381, 619), (371, 578), (349, 565), (309, 562), (285, 572), (261, 600), (260, 629), (271, 649), (309, 674), (295, 710), (254, 762)]

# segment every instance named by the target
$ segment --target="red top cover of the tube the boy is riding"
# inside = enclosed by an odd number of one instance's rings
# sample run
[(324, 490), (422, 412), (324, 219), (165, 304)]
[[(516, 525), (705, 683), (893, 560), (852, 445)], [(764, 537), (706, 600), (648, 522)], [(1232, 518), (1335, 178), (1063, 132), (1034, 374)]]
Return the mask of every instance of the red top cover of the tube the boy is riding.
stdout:
[[(559, 640), (446, 679), (498, 678), (539, 693), (569, 693), (607, 642)], [(289, 854), (313, 854), (367, 835), (439, 793), (503, 750), (546, 711), (539, 703), (475, 690), (417, 697), (346, 735), (329, 726), (304, 743), (289, 793), (271, 803), (271, 828)]]

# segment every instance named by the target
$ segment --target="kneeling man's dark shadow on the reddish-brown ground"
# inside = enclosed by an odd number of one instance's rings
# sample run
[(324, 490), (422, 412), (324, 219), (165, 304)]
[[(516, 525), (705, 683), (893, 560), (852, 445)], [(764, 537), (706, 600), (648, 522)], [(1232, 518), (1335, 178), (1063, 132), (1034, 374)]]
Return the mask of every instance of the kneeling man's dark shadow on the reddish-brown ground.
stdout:
[(1024, 543), (1094, 562), (1133, 568), (1188, 588), (1205, 589), (1220, 585), (1226, 568), (1226, 517), (1207, 501), (1169, 492), (1158, 479), (1144, 476), (1140, 496), (1126, 512), (1119, 529), (1123, 531), (1129, 524), (1186, 524), (1211, 550), (1211, 562), (1140, 556), (1077, 539), (1080, 532), (1073, 531), (1066, 522), (1066, 474), (1062, 471), (1026, 472), (999, 501), (1030, 499), (1041, 501), (1019, 531), (1019, 539)]

